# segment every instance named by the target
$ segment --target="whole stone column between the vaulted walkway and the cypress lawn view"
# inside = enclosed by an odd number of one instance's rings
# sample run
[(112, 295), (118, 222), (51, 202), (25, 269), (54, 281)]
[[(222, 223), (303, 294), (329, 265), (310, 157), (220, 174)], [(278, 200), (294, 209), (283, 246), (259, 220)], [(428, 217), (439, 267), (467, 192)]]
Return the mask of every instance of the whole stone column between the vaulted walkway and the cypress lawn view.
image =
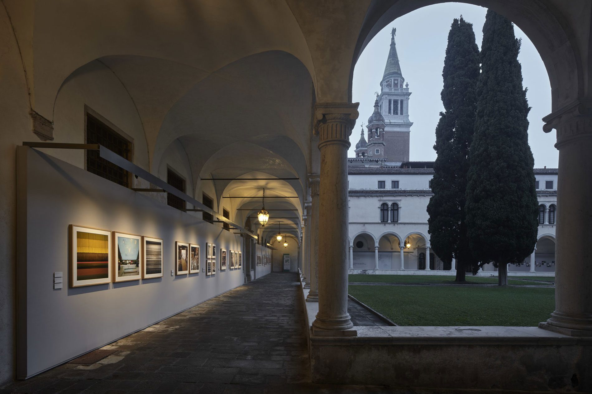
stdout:
[(353, 327), (348, 313), (348, 149), (359, 103), (318, 103), (314, 132), (320, 150), (318, 313), (313, 328)]

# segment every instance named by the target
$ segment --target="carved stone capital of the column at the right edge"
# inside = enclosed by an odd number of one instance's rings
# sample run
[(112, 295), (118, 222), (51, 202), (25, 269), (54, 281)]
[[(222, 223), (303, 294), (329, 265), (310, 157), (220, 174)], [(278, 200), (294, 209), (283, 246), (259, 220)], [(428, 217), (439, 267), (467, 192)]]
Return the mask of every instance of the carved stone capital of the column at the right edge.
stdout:
[(583, 99), (565, 105), (565, 107), (543, 118), (545, 125), (543, 131), (557, 130), (557, 143), (555, 148), (560, 148), (564, 143), (569, 143), (584, 137), (592, 137), (592, 100)]

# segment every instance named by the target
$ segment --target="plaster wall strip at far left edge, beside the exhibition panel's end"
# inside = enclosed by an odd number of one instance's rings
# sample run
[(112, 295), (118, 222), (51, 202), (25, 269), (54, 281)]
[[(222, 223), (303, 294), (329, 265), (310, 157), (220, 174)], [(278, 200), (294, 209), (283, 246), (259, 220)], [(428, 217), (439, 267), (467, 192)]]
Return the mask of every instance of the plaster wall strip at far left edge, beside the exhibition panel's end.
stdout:
[(27, 83), (12, 26), (0, 7), (0, 386), (14, 376), (16, 268), (16, 146), (31, 132)]

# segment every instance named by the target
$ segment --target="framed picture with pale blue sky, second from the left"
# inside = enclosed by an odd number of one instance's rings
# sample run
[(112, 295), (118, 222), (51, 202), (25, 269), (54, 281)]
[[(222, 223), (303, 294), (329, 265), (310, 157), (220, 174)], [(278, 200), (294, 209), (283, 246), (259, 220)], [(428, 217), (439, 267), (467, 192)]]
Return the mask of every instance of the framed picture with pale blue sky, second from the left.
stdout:
[(142, 277), (140, 235), (113, 232), (113, 281), (125, 282)]

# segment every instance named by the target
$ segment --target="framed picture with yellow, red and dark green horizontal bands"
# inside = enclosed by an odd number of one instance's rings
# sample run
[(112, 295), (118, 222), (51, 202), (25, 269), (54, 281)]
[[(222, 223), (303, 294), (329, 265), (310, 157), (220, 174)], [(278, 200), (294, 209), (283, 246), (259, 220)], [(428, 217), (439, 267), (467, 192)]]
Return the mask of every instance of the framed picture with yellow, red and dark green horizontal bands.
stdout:
[(111, 232), (70, 225), (70, 287), (111, 282)]

